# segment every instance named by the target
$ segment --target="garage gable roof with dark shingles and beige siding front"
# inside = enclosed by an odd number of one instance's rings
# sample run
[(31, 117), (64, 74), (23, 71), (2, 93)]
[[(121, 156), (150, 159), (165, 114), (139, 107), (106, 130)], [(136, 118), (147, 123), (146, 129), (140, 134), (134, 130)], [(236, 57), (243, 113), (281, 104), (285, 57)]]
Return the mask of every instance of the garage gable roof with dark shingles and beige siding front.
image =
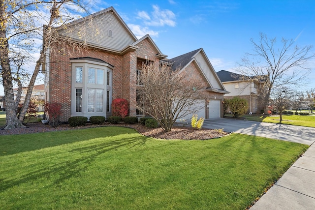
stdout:
[(216, 74), (210, 60), (208, 59), (207, 55), (205, 54), (202, 48), (175, 57), (173, 59), (162, 61), (171, 64), (172, 70), (176, 70), (177, 68), (179, 68), (181, 69), (181, 71), (184, 70), (187, 66), (189, 66), (190, 63), (193, 62), (206, 79), (209, 85), (207, 90), (220, 93), (229, 93), (228, 91), (225, 90), (223, 84), (220, 81), (220, 78)]

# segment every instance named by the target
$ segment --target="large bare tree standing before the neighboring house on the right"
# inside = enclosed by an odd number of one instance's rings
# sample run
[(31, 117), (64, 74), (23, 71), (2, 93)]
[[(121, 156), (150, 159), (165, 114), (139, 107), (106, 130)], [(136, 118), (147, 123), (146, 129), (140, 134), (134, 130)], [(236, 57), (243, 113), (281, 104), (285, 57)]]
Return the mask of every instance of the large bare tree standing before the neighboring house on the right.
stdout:
[(313, 59), (312, 46), (302, 48), (294, 40), (282, 38), (281, 44), (276, 38), (269, 39), (260, 34), (260, 41), (251, 39), (253, 53), (247, 53), (236, 69), (246, 78), (252, 78), (258, 84), (260, 97), (268, 114), (268, 101), (274, 90), (284, 86), (300, 86), (307, 83), (310, 68), (307, 61)]

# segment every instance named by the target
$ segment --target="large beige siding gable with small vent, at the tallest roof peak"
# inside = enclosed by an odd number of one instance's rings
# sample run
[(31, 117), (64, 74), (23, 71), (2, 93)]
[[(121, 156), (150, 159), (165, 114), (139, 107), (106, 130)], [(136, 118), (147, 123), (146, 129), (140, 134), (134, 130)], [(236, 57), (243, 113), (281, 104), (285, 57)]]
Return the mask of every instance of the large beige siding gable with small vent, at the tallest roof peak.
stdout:
[(61, 33), (88, 45), (115, 51), (122, 51), (136, 41), (114, 10), (90, 17)]

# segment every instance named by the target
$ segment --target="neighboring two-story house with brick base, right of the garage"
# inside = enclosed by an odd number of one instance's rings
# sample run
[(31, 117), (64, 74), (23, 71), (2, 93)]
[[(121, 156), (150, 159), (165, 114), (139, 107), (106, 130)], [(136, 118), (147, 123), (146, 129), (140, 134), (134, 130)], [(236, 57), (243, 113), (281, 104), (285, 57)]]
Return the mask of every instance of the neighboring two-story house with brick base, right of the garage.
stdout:
[(224, 99), (231, 99), (235, 96), (246, 99), (249, 105), (249, 114), (260, 114), (261, 110), (264, 110), (257, 83), (244, 79), (244, 75), (225, 70), (221, 70), (217, 74), (225, 89), (229, 91), (228, 94), (224, 95)]

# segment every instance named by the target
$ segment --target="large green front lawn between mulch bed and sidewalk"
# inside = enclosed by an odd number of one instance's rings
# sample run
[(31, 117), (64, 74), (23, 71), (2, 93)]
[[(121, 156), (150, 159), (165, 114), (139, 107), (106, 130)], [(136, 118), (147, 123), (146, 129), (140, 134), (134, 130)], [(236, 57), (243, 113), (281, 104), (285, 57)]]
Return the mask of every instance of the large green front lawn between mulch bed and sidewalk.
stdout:
[(98, 127), (0, 139), (0, 209), (245, 209), (308, 146)]

